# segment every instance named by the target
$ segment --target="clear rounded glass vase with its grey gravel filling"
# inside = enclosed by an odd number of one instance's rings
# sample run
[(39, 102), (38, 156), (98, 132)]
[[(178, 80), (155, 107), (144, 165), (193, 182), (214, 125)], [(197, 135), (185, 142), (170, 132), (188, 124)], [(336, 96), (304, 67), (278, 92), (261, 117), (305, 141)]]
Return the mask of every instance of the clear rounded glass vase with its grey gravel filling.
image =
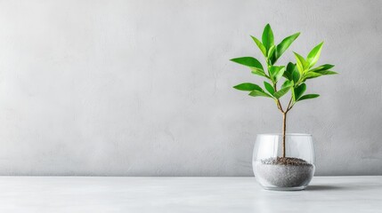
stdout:
[(259, 134), (252, 166), (257, 182), (269, 190), (302, 190), (314, 175), (312, 135)]

